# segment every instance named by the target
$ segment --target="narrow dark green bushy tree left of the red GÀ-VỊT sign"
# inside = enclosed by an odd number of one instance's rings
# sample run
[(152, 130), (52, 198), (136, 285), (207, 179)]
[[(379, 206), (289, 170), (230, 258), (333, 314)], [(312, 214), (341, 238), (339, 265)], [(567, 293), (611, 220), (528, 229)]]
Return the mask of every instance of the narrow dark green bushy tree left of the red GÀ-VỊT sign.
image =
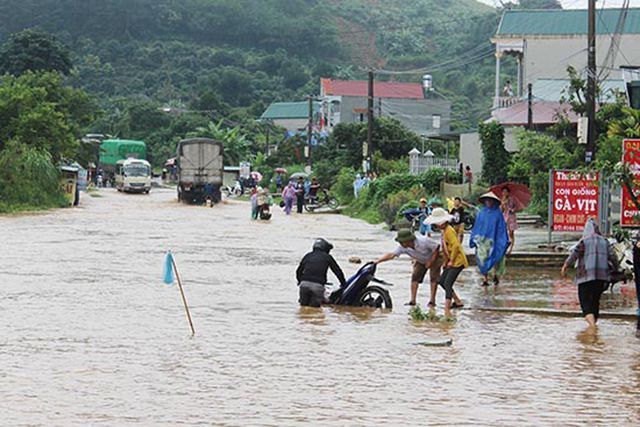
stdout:
[(506, 181), (509, 153), (504, 148), (504, 128), (497, 122), (480, 123), (482, 178), (491, 185)]

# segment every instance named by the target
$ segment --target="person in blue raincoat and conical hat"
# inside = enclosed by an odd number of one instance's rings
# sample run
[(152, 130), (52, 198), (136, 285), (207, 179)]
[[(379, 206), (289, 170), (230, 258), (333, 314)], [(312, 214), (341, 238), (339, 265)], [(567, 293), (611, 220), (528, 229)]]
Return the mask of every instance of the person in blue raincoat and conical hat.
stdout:
[(489, 285), (489, 272), (493, 269), (493, 284), (500, 283), (499, 275), (504, 274), (504, 256), (509, 247), (509, 234), (504, 216), (500, 210), (500, 199), (492, 192), (480, 196), (484, 206), (478, 212), (469, 246), (476, 249), (476, 264), (484, 276), (482, 286)]

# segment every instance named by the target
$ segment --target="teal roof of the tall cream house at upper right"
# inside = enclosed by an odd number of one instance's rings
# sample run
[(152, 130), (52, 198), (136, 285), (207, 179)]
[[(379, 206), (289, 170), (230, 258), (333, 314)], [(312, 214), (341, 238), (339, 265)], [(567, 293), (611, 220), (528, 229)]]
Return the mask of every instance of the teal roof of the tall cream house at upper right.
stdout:
[[(596, 32), (613, 33), (622, 9), (598, 9)], [(640, 9), (629, 9), (623, 34), (640, 34)], [(507, 10), (496, 36), (587, 34), (587, 10)]]

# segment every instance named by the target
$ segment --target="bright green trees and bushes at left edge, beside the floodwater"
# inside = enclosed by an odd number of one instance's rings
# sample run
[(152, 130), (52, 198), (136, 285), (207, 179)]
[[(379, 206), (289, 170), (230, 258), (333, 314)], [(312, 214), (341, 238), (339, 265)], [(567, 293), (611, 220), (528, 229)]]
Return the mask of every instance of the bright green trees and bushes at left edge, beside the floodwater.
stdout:
[(58, 73), (0, 79), (0, 211), (62, 205), (58, 165), (83, 152), (78, 138), (92, 111)]

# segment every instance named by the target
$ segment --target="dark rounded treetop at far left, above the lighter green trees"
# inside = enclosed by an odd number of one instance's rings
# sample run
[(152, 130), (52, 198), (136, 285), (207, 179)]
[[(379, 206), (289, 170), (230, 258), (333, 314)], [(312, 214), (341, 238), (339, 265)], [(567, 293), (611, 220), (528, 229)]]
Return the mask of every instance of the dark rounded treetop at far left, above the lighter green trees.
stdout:
[(26, 71), (71, 71), (69, 50), (51, 34), (23, 30), (0, 46), (0, 74), (19, 76)]

